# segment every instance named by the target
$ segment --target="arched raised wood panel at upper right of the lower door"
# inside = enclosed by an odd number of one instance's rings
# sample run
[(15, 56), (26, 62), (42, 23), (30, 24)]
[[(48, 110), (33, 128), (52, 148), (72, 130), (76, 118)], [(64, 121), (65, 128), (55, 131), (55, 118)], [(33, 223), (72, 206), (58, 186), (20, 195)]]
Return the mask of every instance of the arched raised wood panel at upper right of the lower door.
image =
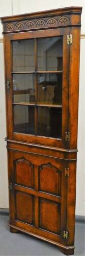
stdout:
[(61, 171), (50, 163), (39, 167), (39, 190), (61, 196)]

